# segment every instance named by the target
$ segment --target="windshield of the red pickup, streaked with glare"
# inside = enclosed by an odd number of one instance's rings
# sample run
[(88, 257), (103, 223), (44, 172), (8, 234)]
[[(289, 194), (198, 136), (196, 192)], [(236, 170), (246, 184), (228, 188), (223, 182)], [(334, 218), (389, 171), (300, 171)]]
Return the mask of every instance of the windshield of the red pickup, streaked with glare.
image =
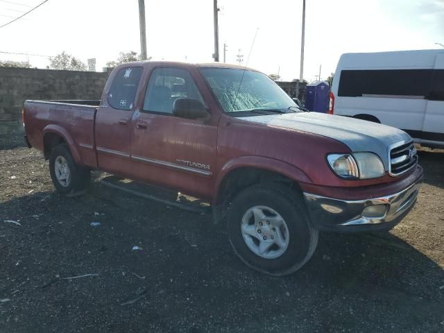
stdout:
[(265, 74), (230, 68), (203, 68), (201, 72), (224, 112), (294, 112), (294, 108), (290, 111), (289, 107), (297, 108), (293, 100)]

